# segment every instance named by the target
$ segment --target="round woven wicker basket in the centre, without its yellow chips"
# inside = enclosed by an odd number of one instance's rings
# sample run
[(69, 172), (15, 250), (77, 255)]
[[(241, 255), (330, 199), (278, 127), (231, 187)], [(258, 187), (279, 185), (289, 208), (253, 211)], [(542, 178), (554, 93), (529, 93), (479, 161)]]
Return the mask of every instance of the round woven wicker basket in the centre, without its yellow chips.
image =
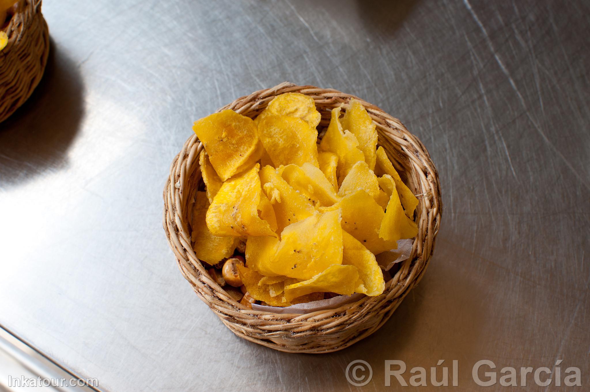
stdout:
[[(329, 109), (346, 103), (349, 94), (333, 89), (297, 86), (283, 83), (276, 87), (256, 91), (236, 99), (220, 108), (255, 117), (276, 95), (284, 92), (301, 92), (313, 97), (322, 114), (320, 126), (329, 123)], [(359, 98), (356, 98), (359, 99)], [(388, 320), (395, 309), (421, 279), (434, 249), (434, 239), (441, 218), (441, 195), (437, 170), (424, 145), (398, 119), (391, 117), (375, 105), (360, 100), (375, 121), (379, 145), (402, 176), (407, 175), (408, 186), (418, 195), (418, 235), (411, 257), (404, 261), (385, 285), (383, 294), (363, 297), (356, 303), (335, 310), (309, 314), (274, 314), (254, 311), (233, 300), (207, 274), (196, 258), (191, 244), (192, 206), (195, 192), (201, 181), (198, 156), (202, 144), (192, 135), (172, 162), (170, 177), (164, 189), (163, 225), (166, 236), (176, 255), (182, 274), (196, 294), (221, 321), (239, 337), (291, 353), (327, 353), (342, 350), (367, 337)]]

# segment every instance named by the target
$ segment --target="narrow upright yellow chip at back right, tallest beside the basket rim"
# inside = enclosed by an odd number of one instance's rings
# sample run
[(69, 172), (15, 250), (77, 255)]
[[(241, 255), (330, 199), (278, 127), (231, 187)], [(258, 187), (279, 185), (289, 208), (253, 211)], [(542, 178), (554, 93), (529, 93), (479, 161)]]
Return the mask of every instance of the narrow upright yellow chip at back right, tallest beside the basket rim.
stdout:
[(350, 107), (342, 117), (342, 128), (348, 129), (359, 141), (359, 149), (365, 155), (365, 162), (375, 170), (377, 130), (365, 107), (356, 99), (350, 99)]

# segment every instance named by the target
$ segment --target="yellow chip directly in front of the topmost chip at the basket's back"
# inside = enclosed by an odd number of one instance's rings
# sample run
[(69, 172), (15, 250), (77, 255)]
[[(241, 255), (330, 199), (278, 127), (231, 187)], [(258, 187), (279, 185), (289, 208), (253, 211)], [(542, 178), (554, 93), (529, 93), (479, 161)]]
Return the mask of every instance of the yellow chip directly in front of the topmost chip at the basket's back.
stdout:
[(317, 130), (302, 119), (267, 115), (258, 123), (258, 135), (274, 167), (305, 162), (318, 165)]

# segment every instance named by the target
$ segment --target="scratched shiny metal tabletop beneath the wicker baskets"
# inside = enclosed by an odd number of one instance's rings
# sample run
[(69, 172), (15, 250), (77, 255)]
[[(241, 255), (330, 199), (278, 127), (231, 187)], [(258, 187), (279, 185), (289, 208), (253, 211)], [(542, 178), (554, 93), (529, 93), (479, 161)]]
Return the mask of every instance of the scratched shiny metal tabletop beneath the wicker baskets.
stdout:
[[(47, 74), (0, 125), (0, 324), (109, 391), (337, 391), (356, 359), (373, 368), (367, 390), (383, 388), (384, 360), (458, 360), (454, 389), (470, 391), (477, 360), (561, 358), (586, 385), (589, 13), (553, 1), (46, 2)], [(334, 354), (234, 337), (161, 227), (192, 122), (282, 81), (399, 117), (444, 192), (422, 283), (378, 333)]]

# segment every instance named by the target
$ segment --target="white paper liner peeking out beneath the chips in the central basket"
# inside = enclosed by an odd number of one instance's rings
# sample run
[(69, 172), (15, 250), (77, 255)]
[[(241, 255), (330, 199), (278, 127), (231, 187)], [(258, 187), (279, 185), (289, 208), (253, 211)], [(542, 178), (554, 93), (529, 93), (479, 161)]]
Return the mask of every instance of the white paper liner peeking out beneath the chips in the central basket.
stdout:
[[(389, 271), (391, 267), (396, 263), (407, 260), (409, 254), (412, 252), (412, 245), (414, 244), (413, 239), (399, 240), (398, 248), (383, 253), (379, 253), (375, 256), (377, 263), (382, 270)], [(338, 295), (334, 298), (327, 300), (319, 300), (313, 302), (307, 302), (304, 304), (296, 304), (287, 306), (284, 308), (276, 306), (265, 306), (252, 304), (252, 310), (265, 311), (276, 314), (307, 314), (316, 312), (319, 310), (330, 310), (336, 309), (342, 305), (349, 304), (360, 300), (365, 294), (352, 294), (352, 295)]]

